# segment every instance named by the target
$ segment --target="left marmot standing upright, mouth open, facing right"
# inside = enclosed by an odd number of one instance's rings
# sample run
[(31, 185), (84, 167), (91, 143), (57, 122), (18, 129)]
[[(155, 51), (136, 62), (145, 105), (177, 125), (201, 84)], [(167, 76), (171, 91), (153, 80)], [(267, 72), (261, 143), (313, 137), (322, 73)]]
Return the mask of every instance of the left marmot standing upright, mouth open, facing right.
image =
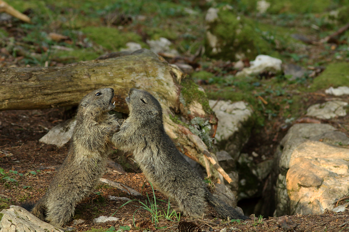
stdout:
[(39, 219), (62, 226), (74, 214), (75, 206), (95, 188), (104, 173), (110, 136), (119, 124), (108, 111), (114, 109), (112, 88), (86, 95), (76, 114), (76, 126), (67, 157), (46, 194), (31, 210)]

